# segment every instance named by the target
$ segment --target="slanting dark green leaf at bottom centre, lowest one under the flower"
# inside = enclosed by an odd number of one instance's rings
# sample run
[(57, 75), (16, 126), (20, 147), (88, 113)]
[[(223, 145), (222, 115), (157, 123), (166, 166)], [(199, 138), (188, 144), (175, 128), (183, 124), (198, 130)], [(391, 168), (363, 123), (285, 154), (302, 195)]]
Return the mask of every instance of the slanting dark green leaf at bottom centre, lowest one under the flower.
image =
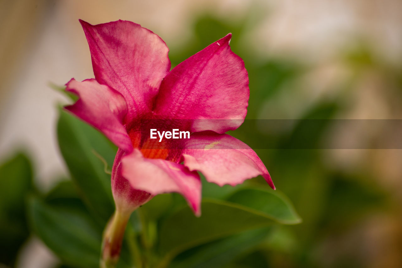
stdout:
[(172, 268), (219, 268), (232, 262), (244, 252), (255, 248), (267, 238), (270, 227), (250, 230), (219, 239), (188, 250), (175, 258)]

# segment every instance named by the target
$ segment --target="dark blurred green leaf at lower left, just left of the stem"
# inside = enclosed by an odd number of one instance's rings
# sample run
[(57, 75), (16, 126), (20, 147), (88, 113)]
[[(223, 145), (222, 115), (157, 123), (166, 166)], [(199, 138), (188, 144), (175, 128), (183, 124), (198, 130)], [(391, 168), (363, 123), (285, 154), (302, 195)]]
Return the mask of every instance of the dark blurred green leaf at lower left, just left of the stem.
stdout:
[(45, 204), (29, 199), (29, 221), (42, 241), (66, 264), (99, 267), (101, 229), (76, 202)]

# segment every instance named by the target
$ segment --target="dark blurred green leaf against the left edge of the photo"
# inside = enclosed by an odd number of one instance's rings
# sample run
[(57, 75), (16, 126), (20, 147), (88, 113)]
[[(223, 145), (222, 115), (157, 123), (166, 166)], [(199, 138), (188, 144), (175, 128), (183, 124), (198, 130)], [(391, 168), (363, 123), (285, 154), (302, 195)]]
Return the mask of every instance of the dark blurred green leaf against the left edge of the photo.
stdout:
[(23, 153), (0, 166), (0, 263), (10, 266), (29, 236), (25, 196), (32, 189), (32, 174), (31, 162)]

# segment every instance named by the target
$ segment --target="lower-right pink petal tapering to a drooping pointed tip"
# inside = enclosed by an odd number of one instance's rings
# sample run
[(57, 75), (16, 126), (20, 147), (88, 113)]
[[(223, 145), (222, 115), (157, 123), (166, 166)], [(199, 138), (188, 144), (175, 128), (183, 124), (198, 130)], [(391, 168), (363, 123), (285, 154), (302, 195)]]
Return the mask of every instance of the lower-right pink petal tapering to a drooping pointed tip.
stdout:
[(194, 133), (186, 141), (182, 158), (189, 170), (198, 170), (209, 182), (235, 186), (262, 175), (271, 188), (275, 186), (258, 155), (242, 141), (211, 131)]

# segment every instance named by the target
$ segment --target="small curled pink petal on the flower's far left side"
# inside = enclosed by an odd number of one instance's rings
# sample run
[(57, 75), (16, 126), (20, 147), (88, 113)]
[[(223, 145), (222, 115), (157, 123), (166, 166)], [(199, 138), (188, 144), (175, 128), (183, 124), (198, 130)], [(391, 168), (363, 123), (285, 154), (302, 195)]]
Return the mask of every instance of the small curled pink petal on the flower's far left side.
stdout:
[(100, 130), (119, 148), (131, 152), (133, 146), (122, 122), (127, 114), (127, 104), (121, 94), (95, 79), (82, 82), (74, 78), (66, 90), (80, 98), (65, 109)]

